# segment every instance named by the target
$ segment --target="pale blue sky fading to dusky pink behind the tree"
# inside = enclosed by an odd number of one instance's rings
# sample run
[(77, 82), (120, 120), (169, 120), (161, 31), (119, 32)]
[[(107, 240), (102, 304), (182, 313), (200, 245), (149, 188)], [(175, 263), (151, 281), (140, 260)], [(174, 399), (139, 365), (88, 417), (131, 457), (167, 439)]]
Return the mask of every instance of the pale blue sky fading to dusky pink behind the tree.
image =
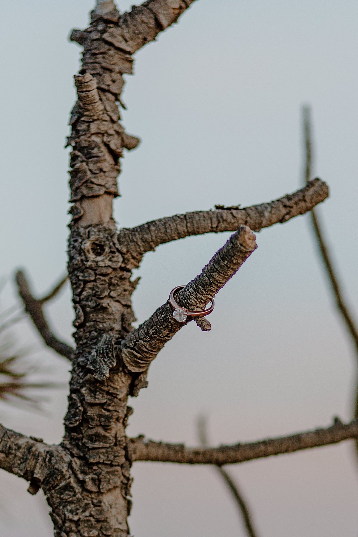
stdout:
[[(121, 11), (130, 3), (120, 1)], [(2, 5), (0, 272), (3, 308), (18, 299), (25, 267), (39, 295), (65, 271), (69, 111), (92, 0)], [(197, 0), (179, 23), (135, 55), (123, 125), (141, 138), (127, 153), (115, 200), (119, 227), (160, 216), (270, 201), (302, 185), (303, 104), (312, 107), (313, 174), (330, 186), (318, 208), (356, 317), (358, 261), (356, 2)], [(201, 271), (228, 234), (190, 237), (148, 253), (135, 276), (138, 322), (170, 290)], [(349, 420), (357, 376), (345, 326), (326, 285), (308, 215), (262, 230), (258, 249), (217, 295), (212, 329), (191, 323), (151, 365), (131, 400), (128, 434), (195, 445), (208, 418), (213, 444), (283, 436)], [(70, 291), (47, 306), (71, 342)], [(69, 366), (24, 321), (12, 335), (30, 346), (43, 378), (65, 385)], [(15, 430), (59, 442), (65, 386), (42, 413), (1, 404)], [(353, 537), (358, 468), (352, 442), (230, 467), (262, 537)], [(245, 535), (235, 505), (209, 467), (133, 466), (136, 537)], [(50, 537), (41, 495), (0, 471), (0, 535)]]

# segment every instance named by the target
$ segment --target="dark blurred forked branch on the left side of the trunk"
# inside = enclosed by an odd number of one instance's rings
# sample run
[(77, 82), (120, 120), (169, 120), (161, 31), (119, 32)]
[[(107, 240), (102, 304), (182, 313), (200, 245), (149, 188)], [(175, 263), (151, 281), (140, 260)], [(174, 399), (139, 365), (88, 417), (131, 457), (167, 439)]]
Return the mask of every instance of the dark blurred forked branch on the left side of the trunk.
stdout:
[(28, 281), (23, 271), (18, 271), (16, 273), (16, 282), (18, 286), (19, 295), (24, 302), (25, 311), (32, 318), (34, 325), (38, 329), (40, 336), (42, 337), (46, 345), (48, 347), (51, 347), (51, 349), (53, 349), (57, 353), (61, 354), (61, 356), (68, 358), (68, 360), (72, 360), (74, 349), (72, 349), (72, 347), (67, 345), (67, 343), (62, 342), (54, 335), (53, 331), (48, 325), (48, 322), (42, 309), (42, 304), (52, 299), (55, 294), (60, 291), (61, 287), (65, 282), (65, 279), (61, 280), (59, 284), (55, 286), (52, 292), (50, 292), (47, 296), (43, 297), (43, 299), (39, 300), (35, 299), (32, 295), (30, 286), (28, 285)]

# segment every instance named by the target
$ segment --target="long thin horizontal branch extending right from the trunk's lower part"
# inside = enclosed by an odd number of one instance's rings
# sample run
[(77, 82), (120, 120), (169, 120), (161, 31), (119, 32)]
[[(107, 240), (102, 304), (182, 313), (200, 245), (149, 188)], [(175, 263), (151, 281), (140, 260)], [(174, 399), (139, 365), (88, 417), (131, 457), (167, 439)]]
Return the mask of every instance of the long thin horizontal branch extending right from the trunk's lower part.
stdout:
[(238, 462), (261, 459), (271, 455), (293, 453), (312, 447), (338, 444), (343, 440), (358, 438), (358, 420), (348, 424), (335, 418), (326, 429), (316, 429), (282, 438), (269, 438), (247, 444), (219, 447), (185, 447), (184, 444), (164, 444), (143, 437), (132, 438), (134, 461), (179, 462), (190, 465), (231, 465)]

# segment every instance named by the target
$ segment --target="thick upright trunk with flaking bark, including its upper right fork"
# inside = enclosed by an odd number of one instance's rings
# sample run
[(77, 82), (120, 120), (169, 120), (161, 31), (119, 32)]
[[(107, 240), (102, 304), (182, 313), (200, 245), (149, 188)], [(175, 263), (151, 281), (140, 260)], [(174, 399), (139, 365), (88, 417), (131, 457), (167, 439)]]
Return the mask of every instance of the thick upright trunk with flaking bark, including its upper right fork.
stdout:
[(84, 52), (75, 77), (78, 101), (68, 141), (73, 147), (74, 202), (68, 273), (76, 311), (76, 352), (61, 445), (71, 455), (71, 472), (47, 495), (56, 535), (61, 537), (129, 533), (131, 455), (125, 430), (132, 409), (127, 401), (145, 380), (123, 362), (116, 365), (113, 337), (121, 342), (132, 330), (136, 282), (130, 280), (120, 251), (112, 200), (118, 195), (123, 148), (134, 148), (138, 140), (119, 124), (116, 103), (121, 103), (122, 75), (132, 72), (131, 54), (190, 3), (152, 0), (120, 16), (113, 2), (99, 1), (91, 26), (72, 33)]

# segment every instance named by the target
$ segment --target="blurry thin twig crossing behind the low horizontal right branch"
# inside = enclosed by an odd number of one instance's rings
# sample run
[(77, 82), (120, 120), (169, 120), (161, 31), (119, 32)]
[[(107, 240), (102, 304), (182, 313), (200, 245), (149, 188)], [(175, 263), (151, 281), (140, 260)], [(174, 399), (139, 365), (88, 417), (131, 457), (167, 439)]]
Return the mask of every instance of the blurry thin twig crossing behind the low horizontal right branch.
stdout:
[[(207, 420), (204, 416), (200, 416), (198, 419), (198, 437), (200, 444), (205, 447), (208, 445), (207, 437)], [(227, 484), (228, 489), (231, 492), (233, 499), (235, 500), (240, 516), (244, 520), (245, 528), (247, 530), (247, 535), (249, 537), (258, 537), (257, 531), (254, 529), (252, 522), (252, 515), (250, 513), (249, 507), (247, 506), (246, 500), (244, 500), (242, 492), (240, 492), (237, 483), (235, 483), (222, 466), (216, 466), (215, 470), (218, 474), (221, 475), (224, 482)]]

